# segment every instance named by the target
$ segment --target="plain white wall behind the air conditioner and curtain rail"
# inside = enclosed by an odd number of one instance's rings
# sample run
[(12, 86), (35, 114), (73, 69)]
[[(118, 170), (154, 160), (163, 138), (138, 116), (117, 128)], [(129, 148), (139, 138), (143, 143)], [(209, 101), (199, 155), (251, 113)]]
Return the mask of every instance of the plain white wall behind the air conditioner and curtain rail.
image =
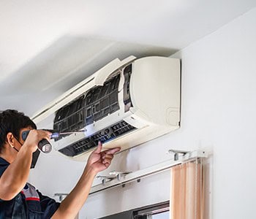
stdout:
[[(118, 154), (110, 169), (136, 170), (157, 164), (168, 158), (165, 152), (170, 148), (213, 150), (212, 218), (254, 218), (255, 27), (256, 9), (252, 9), (174, 55), (182, 59), (181, 128)], [(68, 192), (83, 166), (51, 153), (40, 158), (30, 180), (50, 196)], [(80, 218), (99, 218), (166, 201), (169, 181), (169, 172), (163, 172), (125, 188), (94, 194)]]

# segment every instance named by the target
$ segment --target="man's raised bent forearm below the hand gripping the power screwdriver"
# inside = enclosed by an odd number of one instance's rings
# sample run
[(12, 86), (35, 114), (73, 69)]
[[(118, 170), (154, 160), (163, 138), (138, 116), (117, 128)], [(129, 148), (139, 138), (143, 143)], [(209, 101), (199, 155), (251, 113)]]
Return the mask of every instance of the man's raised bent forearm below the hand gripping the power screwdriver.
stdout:
[(0, 199), (13, 199), (26, 185), (32, 153), (26, 148), (20, 149), (15, 161), (10, 164), (0, 178)]

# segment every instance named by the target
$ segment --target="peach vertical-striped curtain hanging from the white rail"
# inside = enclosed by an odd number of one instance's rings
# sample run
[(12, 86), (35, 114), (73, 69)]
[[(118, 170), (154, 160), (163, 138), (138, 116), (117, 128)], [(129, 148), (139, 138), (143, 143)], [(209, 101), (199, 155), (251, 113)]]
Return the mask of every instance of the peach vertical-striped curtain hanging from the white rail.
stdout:
[(203, 219), (203, 165), (200, 159), (171, 168), (171, 219)]

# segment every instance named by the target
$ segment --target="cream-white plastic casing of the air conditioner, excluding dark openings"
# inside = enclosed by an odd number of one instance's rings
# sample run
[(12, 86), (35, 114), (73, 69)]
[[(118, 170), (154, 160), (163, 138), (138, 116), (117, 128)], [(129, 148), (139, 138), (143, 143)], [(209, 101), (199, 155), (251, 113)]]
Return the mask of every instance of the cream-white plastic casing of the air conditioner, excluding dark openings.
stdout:
[[(129, 81), (129, 92), (132, 107), (124, 110), (123, 85), (124, 67), (132, 64), (132, 75)], [(124, 61), (115, 59), (107, 66), (99, 69), (83, 82), (70, 89), (58, 99), (52, 101), (34, 115), (34, 122), (44, 120), (70, 101), (89, 91), (97, 85), (103, 85), (108, 76), (121, 71), (118, 86), (118, 103), (120, 109), (93, 124), (84, 127), (85, 133), (71, 134), (53, 144), (56, 150), (72, 145), (84, 137), (124, 120), (135, 130), (103, 144), (104, 148), (119, 146), (121, 150), (140, 145), (143, 142), (167, 134), (179, 128), (180, 122), (180, 61), (176, 58), (150, 56), (136, 59), (134, 56)], [(94, 150), (94, 148), (91, 148)], [(77, 161), (85, 161), (91, 150), (69, 157)]]

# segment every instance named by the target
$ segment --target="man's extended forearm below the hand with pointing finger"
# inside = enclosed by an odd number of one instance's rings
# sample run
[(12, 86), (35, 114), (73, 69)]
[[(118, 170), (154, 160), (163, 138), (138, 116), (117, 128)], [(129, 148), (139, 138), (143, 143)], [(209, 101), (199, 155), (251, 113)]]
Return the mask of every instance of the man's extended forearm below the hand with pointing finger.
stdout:
[(53, 219), (75, 218), (89, 195), (95, 175), (96, 172), (91, 168), (84, 170), (75, 188), (61, 202), (59, 209), (54, 213)]

